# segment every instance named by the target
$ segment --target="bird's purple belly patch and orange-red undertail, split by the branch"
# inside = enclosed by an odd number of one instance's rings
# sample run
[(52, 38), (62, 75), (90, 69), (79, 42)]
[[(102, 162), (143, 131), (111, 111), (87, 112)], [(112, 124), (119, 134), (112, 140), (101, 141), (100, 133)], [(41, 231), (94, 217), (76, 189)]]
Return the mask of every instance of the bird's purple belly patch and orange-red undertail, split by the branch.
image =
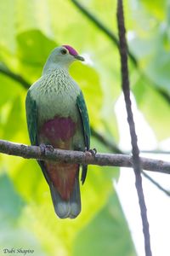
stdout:
[[(72, 137), (76, 129), (77, 124), (70, 117), (54, 117), (40, 128), (39, 143), (51, 144), (54, 148), (74, 149)], [(79, 165), (44, 161), (44, 166), (59, 195), (63, 200), (69, 200)]]

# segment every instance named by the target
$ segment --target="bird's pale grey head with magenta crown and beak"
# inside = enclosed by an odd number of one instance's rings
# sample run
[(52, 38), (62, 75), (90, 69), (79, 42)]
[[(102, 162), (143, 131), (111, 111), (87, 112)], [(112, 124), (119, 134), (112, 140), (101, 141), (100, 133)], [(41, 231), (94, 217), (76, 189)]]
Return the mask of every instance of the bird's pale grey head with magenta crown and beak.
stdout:
[(70, 45), (62, 45), (54, 48), (48, 56), (48, 61), (46, 62), (44, 69), (47, 70), (49, 67), (54, 67), (56, 65), (68, 68), (73, 61), (77, 60), (84, 61), (84, 58), (78, 55), (76, 49), (73, 49)]

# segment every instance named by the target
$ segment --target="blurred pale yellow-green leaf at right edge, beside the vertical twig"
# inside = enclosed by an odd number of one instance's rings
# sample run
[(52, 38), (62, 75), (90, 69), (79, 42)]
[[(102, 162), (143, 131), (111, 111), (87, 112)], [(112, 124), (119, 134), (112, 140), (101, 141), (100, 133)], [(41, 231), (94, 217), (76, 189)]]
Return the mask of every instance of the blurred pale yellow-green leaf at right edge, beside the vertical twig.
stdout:
[(136, 97), (139, 109), (144, 113), (145, 119), (156, 134), (158, 140), (169, 137), (170, 104), (144, 77), (140, 77), (133, 85), (133, 93)]

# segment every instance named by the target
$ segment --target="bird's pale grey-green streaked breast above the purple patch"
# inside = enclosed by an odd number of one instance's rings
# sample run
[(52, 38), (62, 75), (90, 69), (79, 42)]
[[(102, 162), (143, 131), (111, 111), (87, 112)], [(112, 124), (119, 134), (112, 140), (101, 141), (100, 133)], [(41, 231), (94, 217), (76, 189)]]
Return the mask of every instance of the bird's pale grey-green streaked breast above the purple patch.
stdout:
[(30, 90), (31, 97), (37, 102), (38, 125), (54, 116), (70, 116), (77, 122), (77, 96), (80, 88), (68, 73), (55, 71), (43, 75)]

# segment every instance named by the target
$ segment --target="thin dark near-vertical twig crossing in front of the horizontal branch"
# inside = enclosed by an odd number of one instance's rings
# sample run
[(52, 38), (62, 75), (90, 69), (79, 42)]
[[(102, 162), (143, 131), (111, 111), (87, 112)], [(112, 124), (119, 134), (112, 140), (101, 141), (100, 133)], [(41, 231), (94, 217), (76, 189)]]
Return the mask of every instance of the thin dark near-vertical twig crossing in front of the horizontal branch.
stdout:
[(128, 67), (127, 67), (127, 41), (126, 41), (126, 30), (124, 25), (122, 0), (118, 0), (117, 2), (117, 23), (118, 23), (121, 67), (122, 67), (122, 90), (125, 98), (125, 103), (127, 108), (127, 122), (129, 125), (129, 130), (131, 135), (131, 144), (132, 144), (132, 153), (133, 153), (133, 170), (135, 174), (135, 180), (136, 180), (135, 185), (136, 185), (137, 194), (139, 197), (140, 214), (141, 214), (142, 224), (143, 224), (144, 249), (145, 249), (145, 255), (151, 256), (152, 253), (151, 253), (151, 247), (150, 247), (150, 229), (149, 229), (149, 222), (147, 218), (147, 209), (144, 201), (144, 191), (142, 186), (142, 177), (141, 177), (142, 169), (141, 169), (141, 164), (139, 159), (138, 138), (135, 131), (133, 112), (131, 108)]

